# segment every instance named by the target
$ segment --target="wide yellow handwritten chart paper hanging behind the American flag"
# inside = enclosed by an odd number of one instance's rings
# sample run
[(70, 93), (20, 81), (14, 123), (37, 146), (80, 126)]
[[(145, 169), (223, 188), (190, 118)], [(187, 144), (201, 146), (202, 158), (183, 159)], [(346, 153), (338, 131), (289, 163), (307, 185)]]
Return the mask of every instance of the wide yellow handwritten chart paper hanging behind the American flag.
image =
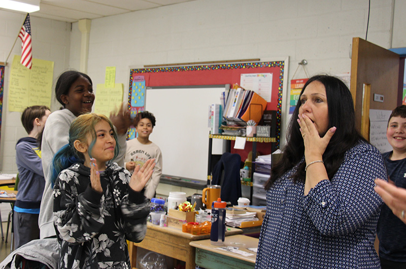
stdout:
[(14, 55), (10, 71), (9, 111), (22, 112), (30, 106), (51, 106), (54, 62), (32, 59), (29, 70)]

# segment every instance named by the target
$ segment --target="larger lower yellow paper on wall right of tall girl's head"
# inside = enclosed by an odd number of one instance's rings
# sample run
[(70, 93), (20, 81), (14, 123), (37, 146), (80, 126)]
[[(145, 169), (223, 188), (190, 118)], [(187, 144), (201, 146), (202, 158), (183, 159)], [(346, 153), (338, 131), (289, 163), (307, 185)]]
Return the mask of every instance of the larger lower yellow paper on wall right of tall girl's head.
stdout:
[(114, 88), (106, 88), (105, 84), (97, 84), (94, 112), (110, 116), (110, 112), (119, 108), (123, 102), (124, 84), (115, 83)]

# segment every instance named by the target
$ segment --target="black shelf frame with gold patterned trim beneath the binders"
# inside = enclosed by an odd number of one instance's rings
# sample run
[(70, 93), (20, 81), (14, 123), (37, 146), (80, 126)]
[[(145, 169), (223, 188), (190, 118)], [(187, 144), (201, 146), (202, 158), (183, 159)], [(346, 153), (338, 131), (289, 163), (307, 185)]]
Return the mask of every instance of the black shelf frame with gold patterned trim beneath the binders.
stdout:
[[(207, 184), (210, 184), (210, 181), (212, 179), (212, 145), (213, 145), (213, 139), (223, 139), (227, 140), (227, 147), (226, 151), (230, 152), (231, 150), (231, 140), (235, 140), (236, 137), (233, 136), (222, 136), (222, 135), (211, 135), (209, 133), (209, 161), (208, 161), (208, 172), (207, 172)], [(257, 145), (256, 143), (271, 143), (272, 144), (272, 152), (276, 150), (276, 138), (261, 138), (261, 137), (247, 137), (247, 141), (253, 142), (252, 143), (252, 156), (256, 156), (256, 149)], [(252, 163), (251, 166), (251, 178), (253, 178), (255, 172), (255, 162)], [(246, 182), (246, 181), (241, 181), (242, 185), (250, 186), (250, 202), (252, 204), (252, 194), (253, 194), (253, 185), (252, 182)]]

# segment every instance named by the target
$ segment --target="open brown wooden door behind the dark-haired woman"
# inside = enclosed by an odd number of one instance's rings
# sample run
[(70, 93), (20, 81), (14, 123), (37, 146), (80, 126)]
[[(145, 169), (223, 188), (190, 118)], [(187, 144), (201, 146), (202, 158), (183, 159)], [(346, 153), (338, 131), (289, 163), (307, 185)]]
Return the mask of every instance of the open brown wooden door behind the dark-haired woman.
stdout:
[[(369, 141), (369, 109), (397, 106), (399, 55), (360, 38), (352, 39), (351, 85), (356, 124)], [(365, 85), (364, 85), (365, 84)], [(374, 101), (374, 94), (384, 102)]]

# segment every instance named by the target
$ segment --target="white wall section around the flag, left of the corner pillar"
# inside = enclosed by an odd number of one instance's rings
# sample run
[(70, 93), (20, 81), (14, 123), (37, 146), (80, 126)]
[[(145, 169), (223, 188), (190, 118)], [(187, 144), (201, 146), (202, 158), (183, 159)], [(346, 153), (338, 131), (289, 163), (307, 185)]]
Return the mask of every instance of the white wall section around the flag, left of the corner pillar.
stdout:
[[(25, 14), (0, 10), (0, 61), (5, 62), (20, 31)], [(69, 67), (71, 23), (30, 16), (32, 35), (32, 57), (54, 61), (54, 81)], [(21, 40), (18, 39), (9, 57), (5, 72), (3, 95), (2, 133), (0, 142), (0, 171), (17, 173), (15, 145), (17, 140), (27, 136), (21, 124), (20, 112), (8, 111), (8, 87), (10, 66), (15, 54), (21, 55)], [(55, 100), (52, 94), (52, 100)], [(51, 110), (58, 109), (56, 101)]]

